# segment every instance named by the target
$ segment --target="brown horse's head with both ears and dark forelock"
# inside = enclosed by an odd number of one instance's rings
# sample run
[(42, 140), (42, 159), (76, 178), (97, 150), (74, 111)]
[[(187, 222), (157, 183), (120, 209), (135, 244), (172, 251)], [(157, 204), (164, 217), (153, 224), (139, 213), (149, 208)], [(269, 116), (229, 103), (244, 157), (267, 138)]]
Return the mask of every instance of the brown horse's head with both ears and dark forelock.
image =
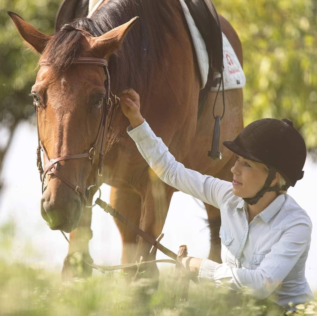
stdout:
[(45, 35), (15, 13), (8, 14), (26, 43), (41, 54), (31, 89), (44, 151), (41, 214), (51, 229), (71, 232), (86, 205), (85, 189), (95, 181), (98, 159), (94, 158), (99, 150), (103, 154), (100, 127), (107, 125), (103, 122), (107, 71), (102, 63), (74, 61), (108, 60), (137, 17), (94, 37), (69, 24)]

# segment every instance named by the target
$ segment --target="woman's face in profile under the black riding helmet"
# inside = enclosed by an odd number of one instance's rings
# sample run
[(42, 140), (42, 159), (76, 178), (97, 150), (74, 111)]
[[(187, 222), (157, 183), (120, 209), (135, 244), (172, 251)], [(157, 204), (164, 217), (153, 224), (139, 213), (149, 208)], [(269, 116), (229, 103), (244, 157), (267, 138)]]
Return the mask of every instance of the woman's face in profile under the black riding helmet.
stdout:
[(268, 177), (264, 164), (236, 156), (231, 168), (233, 173), (233, 194), (242, 198), (252, 198), (264, 186)]

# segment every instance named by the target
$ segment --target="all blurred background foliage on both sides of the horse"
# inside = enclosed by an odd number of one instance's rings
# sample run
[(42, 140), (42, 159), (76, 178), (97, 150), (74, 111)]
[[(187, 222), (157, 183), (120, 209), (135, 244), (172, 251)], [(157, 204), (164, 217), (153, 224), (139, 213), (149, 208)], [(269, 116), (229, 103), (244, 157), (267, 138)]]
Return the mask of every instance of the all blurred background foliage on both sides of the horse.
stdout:
[[(245, 125), (262, 117), (287, 117), (301, 131), (307, 148), (317, 148), (317, 1), (213, 2), (242, 41)], [(0, 168), (17, 123), (34, 113), (28, 94), (38, 60), (6, 11), (50, 34), (60, 3), (0, 0)]]

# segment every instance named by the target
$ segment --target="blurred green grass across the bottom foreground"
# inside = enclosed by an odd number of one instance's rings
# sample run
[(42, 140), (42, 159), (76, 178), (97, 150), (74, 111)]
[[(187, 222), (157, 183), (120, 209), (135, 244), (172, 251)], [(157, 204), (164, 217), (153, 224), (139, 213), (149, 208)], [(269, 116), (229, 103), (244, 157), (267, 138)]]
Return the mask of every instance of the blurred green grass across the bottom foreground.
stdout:
[[(216, 289), (211, 282), (200, 287), (191, 283), (188, 301), (176, 300), (172, 306), (170, 270), (161, 271), (159, 288), (152, 294), (148, 293), (147, 278), (128, 283), (123, 272), (97, 273), (88, 279), (62, 282), (60, 271), (9, 262), (13, 236), (12, 223), (0, 227), (0, 316), (278, 315), (268, 301), (257, 301), (226, 288)], [(181, 292), (182, 286), (178, 285), (178, 300)], [(297, 308), (296, 315), (317, 315), (317, 300)]]

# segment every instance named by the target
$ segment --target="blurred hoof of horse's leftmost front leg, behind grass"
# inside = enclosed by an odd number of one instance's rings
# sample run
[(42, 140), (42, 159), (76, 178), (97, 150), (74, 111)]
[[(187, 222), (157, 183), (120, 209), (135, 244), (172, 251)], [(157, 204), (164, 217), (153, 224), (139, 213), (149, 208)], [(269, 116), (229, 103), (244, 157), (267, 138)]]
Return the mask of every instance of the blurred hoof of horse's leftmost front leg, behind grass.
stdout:
[(75, 252), (68, 254), (64, 259), (63, 269), (61, 272), (62, 280), (68, 281), (74, 278), (88, 278), (92, 274), (93, 268), (88, 263), (93, 263), (89, 253)]

